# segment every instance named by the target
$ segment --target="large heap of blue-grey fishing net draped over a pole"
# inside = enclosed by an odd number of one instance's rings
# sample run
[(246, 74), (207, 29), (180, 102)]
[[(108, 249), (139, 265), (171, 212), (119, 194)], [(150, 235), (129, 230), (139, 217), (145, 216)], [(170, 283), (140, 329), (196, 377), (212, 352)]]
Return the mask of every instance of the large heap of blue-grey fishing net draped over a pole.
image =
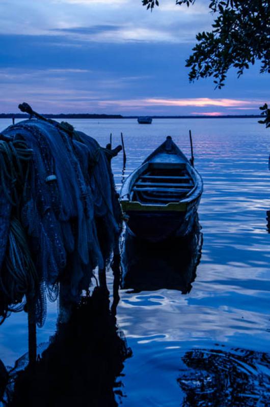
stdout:
[[(42, 326), (59, 282), (78, 302), (118, 245), (121, 210), (106, 150), (72, 126), (26, 120), (0, 135), (0, 315), (35, 297)], [(0, 320), (1, 323), (1, 320)]]

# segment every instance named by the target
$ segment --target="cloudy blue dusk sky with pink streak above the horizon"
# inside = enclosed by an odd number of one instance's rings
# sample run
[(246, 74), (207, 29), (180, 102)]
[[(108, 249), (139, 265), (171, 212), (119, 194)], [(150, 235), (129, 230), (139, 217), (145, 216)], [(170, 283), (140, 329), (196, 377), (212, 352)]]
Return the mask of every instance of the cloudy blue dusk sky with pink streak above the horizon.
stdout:
[(0, 0), (0, 112), (258, 114), (269, 78), (259, 65), (222, 90), (188, 81), (185, 60), (208, 30), (207, 0)]

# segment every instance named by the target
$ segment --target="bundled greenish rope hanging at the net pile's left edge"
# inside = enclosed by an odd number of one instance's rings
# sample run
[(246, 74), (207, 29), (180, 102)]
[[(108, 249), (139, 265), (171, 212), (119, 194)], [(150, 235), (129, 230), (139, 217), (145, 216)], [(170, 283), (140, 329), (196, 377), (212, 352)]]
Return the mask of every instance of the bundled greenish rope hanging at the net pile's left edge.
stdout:
[[(0, 138), (2, 135), (0, 135)], [(2, 321), (9, 311), (23, 308), (23, 297), (34, 292), (38, 274), (34, 266), (25, 231), (19, 220), (19, 207), (32, 151), (23, 140), (0, 139), (0, 195), (9, 203), (10, 219), (0, 271)], [(8, 212), (8, 208), (7, 208)], [(6, 243), (6, 244), (5, 244)], [(3, 248), (2, 248), (3, 249)]]

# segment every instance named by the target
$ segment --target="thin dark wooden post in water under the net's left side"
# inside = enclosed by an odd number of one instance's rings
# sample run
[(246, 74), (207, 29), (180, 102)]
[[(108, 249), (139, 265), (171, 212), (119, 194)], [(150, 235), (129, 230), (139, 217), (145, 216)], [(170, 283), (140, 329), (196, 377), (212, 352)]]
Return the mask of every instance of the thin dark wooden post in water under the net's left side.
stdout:
[(37, 327), (34, 298), (27, 297), (28, 308), (28, 355), (29, 365), (33, 366), (37, 360)]

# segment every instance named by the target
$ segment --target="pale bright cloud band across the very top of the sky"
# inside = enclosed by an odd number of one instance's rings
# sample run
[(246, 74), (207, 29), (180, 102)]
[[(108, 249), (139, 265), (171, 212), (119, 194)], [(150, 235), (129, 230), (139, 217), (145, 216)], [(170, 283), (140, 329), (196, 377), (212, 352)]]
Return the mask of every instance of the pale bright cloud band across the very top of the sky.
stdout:
[(0, 33), (47, 36), (57, 33), (89, 42), (194, 43), (198, 30), (207, 29), (212, 20), (204, 5), (180, 7), (173, 0), (163, 0), (153, 13), (140, 0), (11, 0), (10, 3), (8, 7), (0, 2)]

